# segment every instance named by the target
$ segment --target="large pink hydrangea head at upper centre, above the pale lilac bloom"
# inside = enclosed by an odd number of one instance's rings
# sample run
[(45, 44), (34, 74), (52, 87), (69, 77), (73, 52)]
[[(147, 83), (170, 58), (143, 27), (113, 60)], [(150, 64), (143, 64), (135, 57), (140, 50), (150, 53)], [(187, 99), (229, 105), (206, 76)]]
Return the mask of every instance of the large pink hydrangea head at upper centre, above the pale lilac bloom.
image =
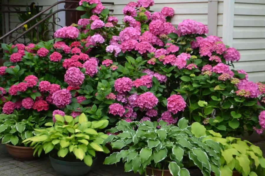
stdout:
[(126, 40), (138, 40), (139, 36), (141, 35), (141, 32), (134, 27), (127, 27), (124, 28), (120, 34), (120, 41), (124, 42)]

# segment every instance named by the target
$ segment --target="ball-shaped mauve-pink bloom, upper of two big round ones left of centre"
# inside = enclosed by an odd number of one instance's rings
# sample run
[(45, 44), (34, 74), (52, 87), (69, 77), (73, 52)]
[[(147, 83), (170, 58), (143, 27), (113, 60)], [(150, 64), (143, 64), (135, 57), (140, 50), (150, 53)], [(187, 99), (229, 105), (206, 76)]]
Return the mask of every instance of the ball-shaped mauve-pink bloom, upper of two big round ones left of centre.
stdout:
[(83, 84), (85, 75), (77, 67), (69, 68), (64, 75), (64, 82), (69, 86), (78, 87)]

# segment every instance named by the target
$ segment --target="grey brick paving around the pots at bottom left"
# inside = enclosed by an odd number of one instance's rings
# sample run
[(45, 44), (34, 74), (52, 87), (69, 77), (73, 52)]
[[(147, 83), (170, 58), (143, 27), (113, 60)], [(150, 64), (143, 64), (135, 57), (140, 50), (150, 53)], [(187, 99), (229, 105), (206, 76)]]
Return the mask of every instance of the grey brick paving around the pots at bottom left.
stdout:
[[(49, 158), (44, 157), (38, 160), (21, 162), (11, 158), (6, 151), (5, 145), (0, 144), (0, 176), (60, 175), (57, 174), (52, 168)], [(117, 166), (99, 164), (87, 176), (137, 176), (137, 174), (131, 172), (125, 173), (123, 165), (121, 163)]]

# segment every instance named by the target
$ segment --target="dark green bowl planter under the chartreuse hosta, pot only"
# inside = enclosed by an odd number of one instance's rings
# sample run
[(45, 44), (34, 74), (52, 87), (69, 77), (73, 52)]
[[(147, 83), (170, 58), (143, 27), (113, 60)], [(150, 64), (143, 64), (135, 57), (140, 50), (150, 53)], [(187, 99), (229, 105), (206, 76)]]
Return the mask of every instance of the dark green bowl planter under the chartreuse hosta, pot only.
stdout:
[(63, 176), (84, 176), (92, 170), (97, 160), (97, 158), (93, 160), (92, 166), (89, 167), (83, 161), (62, 161), (53, 158), (51, 155), (49, 155), (49, 158), (54, 170)]

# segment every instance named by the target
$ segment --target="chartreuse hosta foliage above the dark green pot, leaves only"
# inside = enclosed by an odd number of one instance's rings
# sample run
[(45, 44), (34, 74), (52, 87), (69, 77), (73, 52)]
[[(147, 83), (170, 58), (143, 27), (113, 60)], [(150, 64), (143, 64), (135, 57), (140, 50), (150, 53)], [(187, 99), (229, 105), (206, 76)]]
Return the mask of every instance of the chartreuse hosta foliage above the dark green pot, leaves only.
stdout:
[(85, 164), (91, 166), (96, 152), (109, 153), (107, 147), (103, 146), (107, 134), (97, 132), (108, 126), (107, 120), (88, 121), (85, 114), (75, 119), (72, 116), (55, 115), (55, 123), (46, 123), (50, 126), (44, 129), (35, 129), (36, 136), (26, 139), (24, 143), (31, 143), (35, 153), (49, 153), (57, 151), (58, 157), (84, 160)]

